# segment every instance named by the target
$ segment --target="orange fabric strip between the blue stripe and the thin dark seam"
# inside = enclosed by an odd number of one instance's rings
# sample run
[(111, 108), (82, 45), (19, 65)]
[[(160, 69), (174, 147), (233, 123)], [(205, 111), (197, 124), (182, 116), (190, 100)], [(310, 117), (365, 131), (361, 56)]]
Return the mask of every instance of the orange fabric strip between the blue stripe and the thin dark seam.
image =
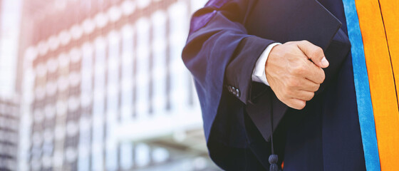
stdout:
[(357, 0), (356, 9), (363, 36), (381, 170), (398, 170), (399, 162), (394, 162), (399, 158), (398, 100), (380, 6), (378, 0)]

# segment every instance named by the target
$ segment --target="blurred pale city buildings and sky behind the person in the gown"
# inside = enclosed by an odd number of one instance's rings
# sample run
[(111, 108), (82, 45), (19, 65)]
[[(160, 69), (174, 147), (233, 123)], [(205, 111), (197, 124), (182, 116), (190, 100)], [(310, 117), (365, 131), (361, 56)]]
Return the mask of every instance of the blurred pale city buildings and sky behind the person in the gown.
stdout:
[(0, 0), (0, 170), (219, 170), (181, 59), (207, 0)]

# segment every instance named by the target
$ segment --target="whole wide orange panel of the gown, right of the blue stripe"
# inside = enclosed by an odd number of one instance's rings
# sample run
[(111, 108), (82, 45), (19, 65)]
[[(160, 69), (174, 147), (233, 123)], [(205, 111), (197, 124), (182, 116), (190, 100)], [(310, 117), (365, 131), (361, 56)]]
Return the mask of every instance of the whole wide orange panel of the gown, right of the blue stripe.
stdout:
[(399, 168), (396, 162), (399, 159), (399, 111), (395, 88), (395, 82), (399, 88), (398, 3), (397, 0), (356, 0), (381, 170)]

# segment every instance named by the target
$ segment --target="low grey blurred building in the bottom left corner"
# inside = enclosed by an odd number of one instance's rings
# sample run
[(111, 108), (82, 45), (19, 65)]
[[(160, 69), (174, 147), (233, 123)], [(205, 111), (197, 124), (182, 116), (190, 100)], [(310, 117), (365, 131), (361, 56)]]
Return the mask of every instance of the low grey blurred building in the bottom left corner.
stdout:
[(0, 170), (17, 170), (19, 105), (0, 99)]

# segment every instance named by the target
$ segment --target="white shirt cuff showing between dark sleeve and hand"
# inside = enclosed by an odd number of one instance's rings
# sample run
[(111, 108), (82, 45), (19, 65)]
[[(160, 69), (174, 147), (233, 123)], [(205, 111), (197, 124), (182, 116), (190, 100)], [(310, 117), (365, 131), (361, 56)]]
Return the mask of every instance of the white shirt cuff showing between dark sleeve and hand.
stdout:
[(255, 65), (254, 71), (252, 72), (252, 81), (264, 83), (266, 86), (269, 86), (269, 82), (267, 82), (266, 79), (265, 64), (271, 49), (279, 44), (281, 43), (271, 43), (266, 49), (264, 49), (263, 53), (261, 53), (261, 56), (259, 56), (257, 64)]

